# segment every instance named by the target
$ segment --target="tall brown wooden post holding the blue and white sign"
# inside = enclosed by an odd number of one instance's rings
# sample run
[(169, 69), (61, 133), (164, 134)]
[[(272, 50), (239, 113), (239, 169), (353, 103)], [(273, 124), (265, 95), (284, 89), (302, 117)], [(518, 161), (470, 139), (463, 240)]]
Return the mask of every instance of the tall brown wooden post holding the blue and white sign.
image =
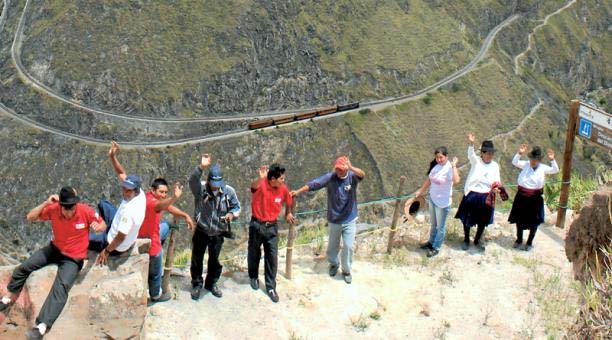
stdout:
[(559, 194), (559, 207), (557, 209), (557, 227), (565, 226), (565, 212), (567, 210), (567, 201), (569, 198), (569, 186), (572, 176), (572, 154), (574, 152), (574, 138), (576, 137), (576, 128), (578, 125), (578, 109), (580, 108), (579, 100), (572, 100), (570, 104), (570, 112), (567, 120), (567, 134), (565, 135), (565, 150), (563, 151), (563, 174), (561, 183), (561, 193)]

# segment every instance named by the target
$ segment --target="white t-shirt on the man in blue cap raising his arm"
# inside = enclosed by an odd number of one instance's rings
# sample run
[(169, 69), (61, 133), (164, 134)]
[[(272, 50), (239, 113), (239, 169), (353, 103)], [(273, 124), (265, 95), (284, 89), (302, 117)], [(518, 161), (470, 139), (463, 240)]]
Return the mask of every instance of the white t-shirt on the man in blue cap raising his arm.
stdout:
[(126, 235), (123, 242), (115, 248), (116, 251), (126, 251), (136, 242), (138, 231), (144, 220), (146, 205), (145, 193), (142, 189), (131, 200), (121, 201), (106, 236), (106, 240), (110, 244), (119, 232)]

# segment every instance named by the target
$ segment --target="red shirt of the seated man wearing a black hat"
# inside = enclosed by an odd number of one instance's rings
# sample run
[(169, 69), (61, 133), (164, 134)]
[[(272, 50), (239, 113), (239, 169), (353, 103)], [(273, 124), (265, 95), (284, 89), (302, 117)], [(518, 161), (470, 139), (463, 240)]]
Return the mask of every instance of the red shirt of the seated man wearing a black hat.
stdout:
[(62, 215), (59, 203), (46, 206), (40, 213), (41, 221), (51, 221), (53, 244), (62, 254), (73, 259), (87, 257), (89, 246), (89, 226), (93, 222), (102, 223), (102, 217), (88, 205), (77, 203), (72, 218)]

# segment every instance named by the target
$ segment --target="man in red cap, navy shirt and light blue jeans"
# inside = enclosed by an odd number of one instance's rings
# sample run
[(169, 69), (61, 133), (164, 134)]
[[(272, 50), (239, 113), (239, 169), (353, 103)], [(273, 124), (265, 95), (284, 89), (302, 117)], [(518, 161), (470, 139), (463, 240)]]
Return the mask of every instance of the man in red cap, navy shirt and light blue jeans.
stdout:
[[(346, 283), (351, 283), (351, 263), (353, 260), (353, 243), (357, 232), (357, 184), (365, 177), (365, 172), (354, 167), (346, 156), (334, 162), (334, 170), (315, 178), (300, 189), (291, 192), (296, 197), (307, 191), (327, 189), (327, 221), (329, 225), (329, 243), (327, 260), (329, 275), (336, 276), (342, 263), (342, 276)], [(338, 261), (342, 238), (341, 261)]]

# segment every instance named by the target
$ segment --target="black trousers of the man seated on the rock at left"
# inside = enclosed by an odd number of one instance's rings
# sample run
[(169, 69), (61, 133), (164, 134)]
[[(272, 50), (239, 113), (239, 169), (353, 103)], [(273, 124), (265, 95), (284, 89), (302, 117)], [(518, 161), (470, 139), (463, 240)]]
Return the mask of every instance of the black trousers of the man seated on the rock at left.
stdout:
[(66, 301), (68, 301), (68, 292), (72, 288), (81, 268), (83, 268), (83, 260), (75, 260), (65, 256), (52, 243), (49, 243), (49, 245), (36, 251), (15, 268), (11, 282), (7, 286), (9, 292), (19, 294), (32, 272), (50, 264), (57, 265), (57, 275), (55, 276), (51, 291), (47, 295), (47, 299), (36, 318), (36, 324), (44, 323), (49, 328), (51, 328), (64, 309)]

